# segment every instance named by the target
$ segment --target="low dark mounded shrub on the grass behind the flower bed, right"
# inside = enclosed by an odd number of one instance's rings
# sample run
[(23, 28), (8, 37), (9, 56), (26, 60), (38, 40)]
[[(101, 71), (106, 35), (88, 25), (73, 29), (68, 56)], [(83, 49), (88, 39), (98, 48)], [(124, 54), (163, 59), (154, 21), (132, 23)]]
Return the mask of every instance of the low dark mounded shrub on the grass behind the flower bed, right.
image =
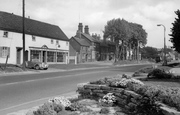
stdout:
[(165, 70), (163, 69), (154, 69), (153, 71), (151, 71), (148, 75), (148, 78), (152, 77), (152, 78), (157, 78), (157, 79), (170, 79), (173, 77), (172, 73), (167, 73)]

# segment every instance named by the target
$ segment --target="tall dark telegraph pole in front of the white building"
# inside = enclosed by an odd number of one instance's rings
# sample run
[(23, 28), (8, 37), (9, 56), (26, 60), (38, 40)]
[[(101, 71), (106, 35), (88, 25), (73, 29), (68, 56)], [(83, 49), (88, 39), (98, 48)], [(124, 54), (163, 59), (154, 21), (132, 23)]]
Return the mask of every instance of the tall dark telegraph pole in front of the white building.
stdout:
[(23, 69), (25, 70), (25, 23), (24, 23), (24, 20), (25, 20), (25, 1), (23, 0), (22, 1), (23, 3), (22, 3), (22, 6), (23, 6), (23, 9), (22, 9), (22, 15), (23, 15), (23, 17), (22, 17), (22, 40), (23, 40)]

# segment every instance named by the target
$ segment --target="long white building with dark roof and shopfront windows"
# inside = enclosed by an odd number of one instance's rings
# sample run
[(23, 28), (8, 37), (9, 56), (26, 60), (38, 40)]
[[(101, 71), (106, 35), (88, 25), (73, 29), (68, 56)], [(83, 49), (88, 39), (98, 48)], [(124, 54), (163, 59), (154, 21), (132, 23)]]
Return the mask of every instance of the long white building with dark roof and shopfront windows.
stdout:
[[(22, 17), (0, 12), (0, 63), (22, 64)], [(56, 25), (25, 18), (25, 58), (66, 63), (69, 39)]]

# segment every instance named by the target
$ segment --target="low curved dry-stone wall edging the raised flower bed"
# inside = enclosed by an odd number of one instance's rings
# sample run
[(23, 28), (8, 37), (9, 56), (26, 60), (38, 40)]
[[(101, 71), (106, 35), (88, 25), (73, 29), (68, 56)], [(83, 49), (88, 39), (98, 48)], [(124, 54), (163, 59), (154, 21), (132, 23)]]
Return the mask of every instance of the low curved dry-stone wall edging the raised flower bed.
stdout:
[[(124, 88), (109, 87), (107, 85), (96, 84), (79, 84), (77, 92), (80, 94), (80, 98), (103, 98), (107, 93), (113, 93), (116, 96), (117, 104), (123, 106), (126, 109), (133, 108), (137, 105), (137, 100), (142, 99), (140, 94), (133, 91), (126, 90)], [(173, 108), (161, 104), (164, 115), (180, 115), (180, 112)]]

